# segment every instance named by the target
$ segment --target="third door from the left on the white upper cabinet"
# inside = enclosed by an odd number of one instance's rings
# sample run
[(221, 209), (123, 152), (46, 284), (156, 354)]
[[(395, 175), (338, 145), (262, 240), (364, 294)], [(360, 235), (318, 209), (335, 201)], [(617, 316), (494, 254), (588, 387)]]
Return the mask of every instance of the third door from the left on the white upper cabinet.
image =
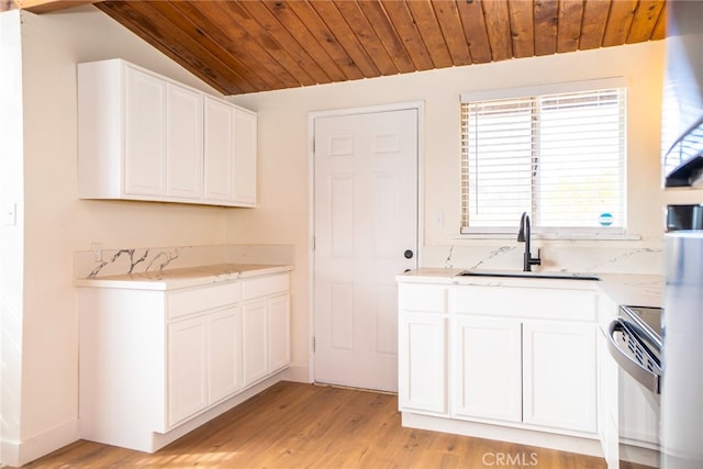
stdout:
[(234, 200), (234, 107), (205, 97), (204, 198)]

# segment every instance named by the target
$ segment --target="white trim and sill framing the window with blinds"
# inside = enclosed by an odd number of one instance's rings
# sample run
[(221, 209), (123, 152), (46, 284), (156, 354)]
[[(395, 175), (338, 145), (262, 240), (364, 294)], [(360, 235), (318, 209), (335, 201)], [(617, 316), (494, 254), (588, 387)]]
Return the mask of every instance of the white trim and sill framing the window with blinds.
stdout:
[[(460, 93), (460, 104), (470, 103), (475, 101), (490, 101), (490, 100), (502, 100), (502, 99), (518, 99), (518, 98), (528, 98), (535, 96), (543, 94), (558, 94), (558, 93), (572, 93), (572, 92), (585, 92), (591, 90), (599, 89), (610, 89), (610, 88), (624, 88), (628, 89), (628, 80), (625, 77), (609, 77), (601, 79), (592, 79), (592, 80), (582, 80), (582, 81), (571, 81), (571, 82), (559, 82), (551, 85), (540, 85), (533, 87), (522, 87), (522, 88), (505, 88), (505, 89), (495, 89), (495, 90), (482, 90), (482, 91), (471, 91), (471, 92), (462, 92)], [(628, 121), (628, 102), (627, 98), (625, 98), (625, 115), (624, 122), (625, 124)], [(533, 228), (533, 234), (538, 238), (549, 238), (549, 239), (629, 239), (632, 236), (627, 235), (627, 139), (628, 139), (628, 127), (625, 127), (625, 155), (623, 161), (623, 208), (624, 208), (624, 220), (622, 226), (614, 227), (599, 227), (598, 231), (591, 231), (590, 228), (580, 228), (580, 227), (559, 227), (559, 228), (548, 228), (540, 230), (539, 227)], [(461, 161), (464, 163), (464, 155), (461, 156)], [(461, 171), (460, 171), (461, 174)], [(461, 196), (464, 197), (464, 196)], [(461, 202), (461, 205), (464, 202)], [(464, 209), (461, 209), (464, 210)], [(464, 212), (462, 212), (464, 213)], [(520, 220), (515, 221), (515, 230), (509, 227), (469, 227), (469, 226), (460, 226), (460, 237), (462, 238), (504, 238), (506, 236), (513, 235), (516, 233), (517, 225)]]

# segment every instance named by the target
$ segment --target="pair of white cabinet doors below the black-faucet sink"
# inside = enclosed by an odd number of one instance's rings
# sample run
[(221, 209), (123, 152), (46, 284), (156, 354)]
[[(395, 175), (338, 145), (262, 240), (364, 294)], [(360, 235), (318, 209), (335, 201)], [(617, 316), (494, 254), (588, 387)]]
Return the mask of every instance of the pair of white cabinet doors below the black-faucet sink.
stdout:
[(591, 324), (458, 317), (453, 415), (595, 432)]

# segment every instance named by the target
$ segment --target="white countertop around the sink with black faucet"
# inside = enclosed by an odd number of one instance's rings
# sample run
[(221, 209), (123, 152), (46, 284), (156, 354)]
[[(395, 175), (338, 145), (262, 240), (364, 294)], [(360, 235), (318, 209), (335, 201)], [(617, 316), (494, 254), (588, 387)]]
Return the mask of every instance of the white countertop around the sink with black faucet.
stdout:
[(637, 273), (595, 273), (600, 280), (536, 279), (524, 277), (457, 277), (465, 269), (420, 268), (401, 273), (400, 282), (478, 284), (492, 287), (534, 287), (598, 289), (605, 292), (616, 304), (636, 306), (661, 306), (663, 278), (654, 275)]

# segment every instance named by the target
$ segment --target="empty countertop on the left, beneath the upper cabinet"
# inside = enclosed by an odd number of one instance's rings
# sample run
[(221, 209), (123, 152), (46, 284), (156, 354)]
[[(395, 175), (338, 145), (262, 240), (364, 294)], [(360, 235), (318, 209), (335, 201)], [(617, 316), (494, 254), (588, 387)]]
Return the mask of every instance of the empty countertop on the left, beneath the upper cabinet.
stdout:
[(152, 272), (76, 279), (77, 287), (122, 288), (132, 290), (172, 290), (209, 283), (233, 281), (255, 276), (292, 270), (292, 266), (265, 264), (215, 264), (156, 270)]

